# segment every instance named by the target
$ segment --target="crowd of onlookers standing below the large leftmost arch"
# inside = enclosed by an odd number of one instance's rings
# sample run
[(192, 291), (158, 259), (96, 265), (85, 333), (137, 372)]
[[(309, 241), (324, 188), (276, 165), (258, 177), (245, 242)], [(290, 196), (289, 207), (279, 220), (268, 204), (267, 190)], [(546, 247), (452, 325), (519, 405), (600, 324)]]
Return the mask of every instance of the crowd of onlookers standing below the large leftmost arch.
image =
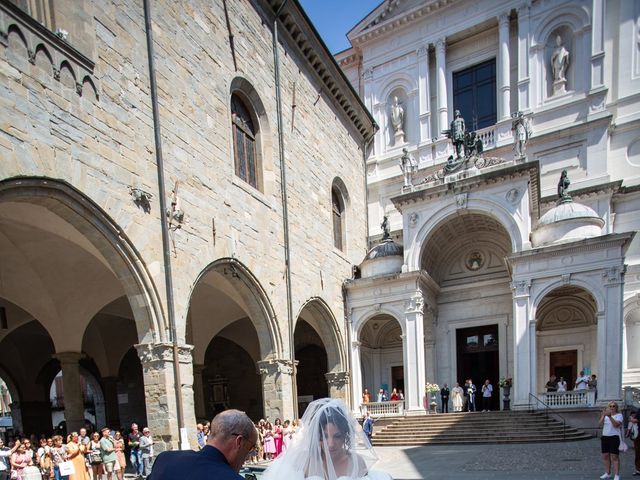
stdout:
[[(139, 478), (147, 478), (153, 461), (153, 437), (133, 423), (126, 433), (108, 427), (89, 433), (15, 436), (0, 440), (0, 480), (123, 480), (127, 456)], [(115, 478), (114, 478), (115, 477)]]

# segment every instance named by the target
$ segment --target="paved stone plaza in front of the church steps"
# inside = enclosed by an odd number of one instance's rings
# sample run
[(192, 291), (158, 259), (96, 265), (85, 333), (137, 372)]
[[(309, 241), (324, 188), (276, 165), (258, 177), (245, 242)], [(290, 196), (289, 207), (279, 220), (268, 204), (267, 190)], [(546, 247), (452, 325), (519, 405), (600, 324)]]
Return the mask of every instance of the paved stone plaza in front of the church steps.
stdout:
[[(377, 447), (376, 468), (394, 480), (598, 478), (600, 439), (517, 445)], [(631, 478), (633, 450), (621, 455), (621, 478)]]

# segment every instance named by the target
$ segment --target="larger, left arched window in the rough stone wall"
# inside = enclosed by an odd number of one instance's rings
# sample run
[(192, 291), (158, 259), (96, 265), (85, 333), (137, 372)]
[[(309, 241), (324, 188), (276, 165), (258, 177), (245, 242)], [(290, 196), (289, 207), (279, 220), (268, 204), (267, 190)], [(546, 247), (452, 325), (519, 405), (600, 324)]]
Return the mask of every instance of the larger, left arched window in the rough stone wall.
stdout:
[(258, 188), (256, 166), (257, 129), (249, 109), (238, 95), (231, 96), (233, 122), (233, 152), (236, 175), (254, 188)]

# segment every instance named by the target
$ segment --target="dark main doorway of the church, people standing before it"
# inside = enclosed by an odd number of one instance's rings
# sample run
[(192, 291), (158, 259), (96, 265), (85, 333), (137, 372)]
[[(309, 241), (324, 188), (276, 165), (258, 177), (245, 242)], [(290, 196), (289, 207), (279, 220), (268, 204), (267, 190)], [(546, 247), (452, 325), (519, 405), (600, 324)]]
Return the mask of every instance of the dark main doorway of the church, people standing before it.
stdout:
[(478, 393), (476, 407), (482, 409), (482, 385), (489, 379), (493, 386), (491, 409), (500, 409), (500, 352), (498, 349), (498, 325), (462, 328), (456, 333), (458, 379), (460, 386), (471, 378)]

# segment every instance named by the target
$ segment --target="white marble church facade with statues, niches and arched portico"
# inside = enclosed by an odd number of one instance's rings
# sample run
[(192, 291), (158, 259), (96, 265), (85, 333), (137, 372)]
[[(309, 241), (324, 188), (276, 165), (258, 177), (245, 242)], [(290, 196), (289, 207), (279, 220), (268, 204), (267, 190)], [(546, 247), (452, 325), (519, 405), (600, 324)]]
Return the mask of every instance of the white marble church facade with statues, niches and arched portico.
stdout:
[(348, 33), (337, 59), (380, 125), (347, 286), (356, 411), (396, 387), (424, 412), (426, 382), (468, 378), (513, 378), (516, 408), (559, 401), (552, 374), (596, 374), (598, 402), (640, 384), (639, 29), (637, 2), (396, 0)]

